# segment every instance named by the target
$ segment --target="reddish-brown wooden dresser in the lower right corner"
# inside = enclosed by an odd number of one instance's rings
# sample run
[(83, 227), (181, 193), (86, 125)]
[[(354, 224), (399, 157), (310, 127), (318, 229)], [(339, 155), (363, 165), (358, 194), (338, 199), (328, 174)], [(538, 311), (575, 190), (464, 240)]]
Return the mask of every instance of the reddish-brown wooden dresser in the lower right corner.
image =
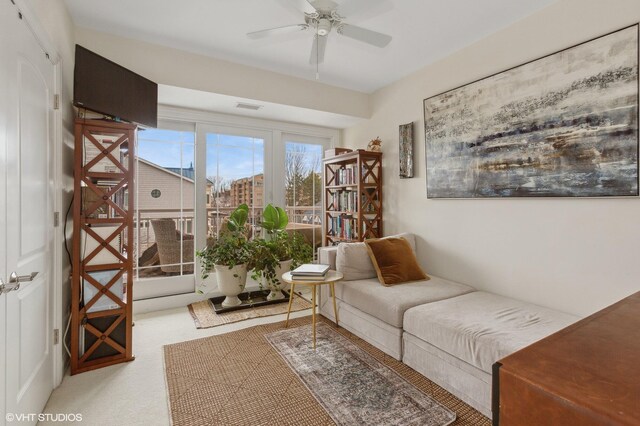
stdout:
[(494, 425), (640, 425), (640, 292), (500, 360)]

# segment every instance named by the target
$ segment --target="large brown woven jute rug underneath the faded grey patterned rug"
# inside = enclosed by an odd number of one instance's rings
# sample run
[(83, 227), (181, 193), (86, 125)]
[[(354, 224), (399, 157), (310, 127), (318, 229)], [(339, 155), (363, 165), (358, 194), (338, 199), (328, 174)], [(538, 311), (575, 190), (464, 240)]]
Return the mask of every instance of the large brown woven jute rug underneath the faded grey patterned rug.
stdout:
[[(289, 322), (289, 327), (305, 326), (310, 321), (309, 317), (297, 318)], [(323, 317), (320, 321), (335, 327)], [(282, 329), (284, 323), (277, 322), (165, 346), (173, 425), (335, 424), (266, 339), (265, 335)], [(491, 424), (482, 414), (401, 362), (343, 328), (335, 331), (456, 413), (452, 424)]]

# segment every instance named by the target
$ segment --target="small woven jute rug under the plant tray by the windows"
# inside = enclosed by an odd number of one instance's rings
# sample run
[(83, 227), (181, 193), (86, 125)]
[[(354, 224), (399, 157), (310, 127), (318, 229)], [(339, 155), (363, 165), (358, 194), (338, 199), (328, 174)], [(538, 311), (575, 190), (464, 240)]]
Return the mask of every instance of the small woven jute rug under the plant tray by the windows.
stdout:
[[(289, 302), (282, 302), (276, 305), (259, 306), (257, 308), (247, 308), (238, 311), (216, 314), (209, 300), (196, 302), (189, 305), (189, 313), (196, 324), (196, 328), (211, 328), (232, 322), (243, 321), (251, 318), (269, 317), (271, 315), (286, 314)], [(291, 312), (310, 309), (311, 302), (301, 297), (295, 297), (291, 305)]]

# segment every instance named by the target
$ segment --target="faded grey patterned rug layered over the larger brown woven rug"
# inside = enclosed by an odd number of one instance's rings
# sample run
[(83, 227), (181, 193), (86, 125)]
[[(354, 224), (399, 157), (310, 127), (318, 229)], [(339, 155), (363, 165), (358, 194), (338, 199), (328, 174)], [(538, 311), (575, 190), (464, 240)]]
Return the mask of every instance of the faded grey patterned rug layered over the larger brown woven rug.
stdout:
[(298, 374), (338, 425), (451, 424), (456, 415), (389, 367), (336, 333), (310, 325), (265, 337)]

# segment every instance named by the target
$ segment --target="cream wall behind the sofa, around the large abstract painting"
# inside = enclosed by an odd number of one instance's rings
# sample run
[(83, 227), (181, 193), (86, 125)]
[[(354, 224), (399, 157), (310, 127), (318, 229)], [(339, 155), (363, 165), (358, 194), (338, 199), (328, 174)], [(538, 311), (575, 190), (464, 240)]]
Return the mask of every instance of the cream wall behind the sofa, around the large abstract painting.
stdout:
[[(640, 199), (428, 200), (424, 98), (640, 21), (638, 0), (560, 0), (373, 95), (347, 146), (380, 136), (385, 234), (412, 231), (426, 270), (578, 315), (640, 290)], [(414, 122), (413, 179), (398, 126)]]

